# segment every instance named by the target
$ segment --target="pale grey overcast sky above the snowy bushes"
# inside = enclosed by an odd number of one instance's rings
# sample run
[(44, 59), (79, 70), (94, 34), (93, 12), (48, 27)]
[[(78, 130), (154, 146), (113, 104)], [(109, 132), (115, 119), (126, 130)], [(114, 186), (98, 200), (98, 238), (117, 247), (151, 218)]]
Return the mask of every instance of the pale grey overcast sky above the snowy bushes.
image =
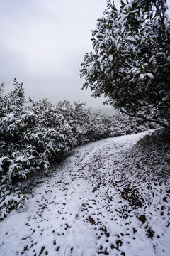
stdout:
[(103, 107), (103, 99), (81, 90), (79, 70), (104, 9), (106, 0), (0, 0), (0, 83), (6, 92), (13, 90), (16, 78), (26, 98)]

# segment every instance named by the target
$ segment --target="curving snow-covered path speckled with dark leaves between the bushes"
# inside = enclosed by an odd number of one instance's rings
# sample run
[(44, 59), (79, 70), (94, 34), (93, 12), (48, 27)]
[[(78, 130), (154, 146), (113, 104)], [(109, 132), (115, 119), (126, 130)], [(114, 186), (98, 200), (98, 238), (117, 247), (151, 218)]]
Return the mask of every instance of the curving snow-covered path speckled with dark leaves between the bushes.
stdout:
[(0, 255), (170, 255), (169, 181), (157, 186), (123, 161), (145, 134), (74, 149), (0, 223)]

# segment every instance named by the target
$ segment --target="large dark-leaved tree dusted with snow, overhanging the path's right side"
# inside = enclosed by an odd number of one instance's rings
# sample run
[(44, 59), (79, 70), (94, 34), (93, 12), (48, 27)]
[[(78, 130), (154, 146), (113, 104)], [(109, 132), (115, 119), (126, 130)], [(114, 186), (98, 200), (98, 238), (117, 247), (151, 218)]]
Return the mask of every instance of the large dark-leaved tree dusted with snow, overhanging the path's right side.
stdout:
[(81, 76), (92, 96), (170, 129), (170, 23), (166, 0), (107, 1), (84, 55)]

